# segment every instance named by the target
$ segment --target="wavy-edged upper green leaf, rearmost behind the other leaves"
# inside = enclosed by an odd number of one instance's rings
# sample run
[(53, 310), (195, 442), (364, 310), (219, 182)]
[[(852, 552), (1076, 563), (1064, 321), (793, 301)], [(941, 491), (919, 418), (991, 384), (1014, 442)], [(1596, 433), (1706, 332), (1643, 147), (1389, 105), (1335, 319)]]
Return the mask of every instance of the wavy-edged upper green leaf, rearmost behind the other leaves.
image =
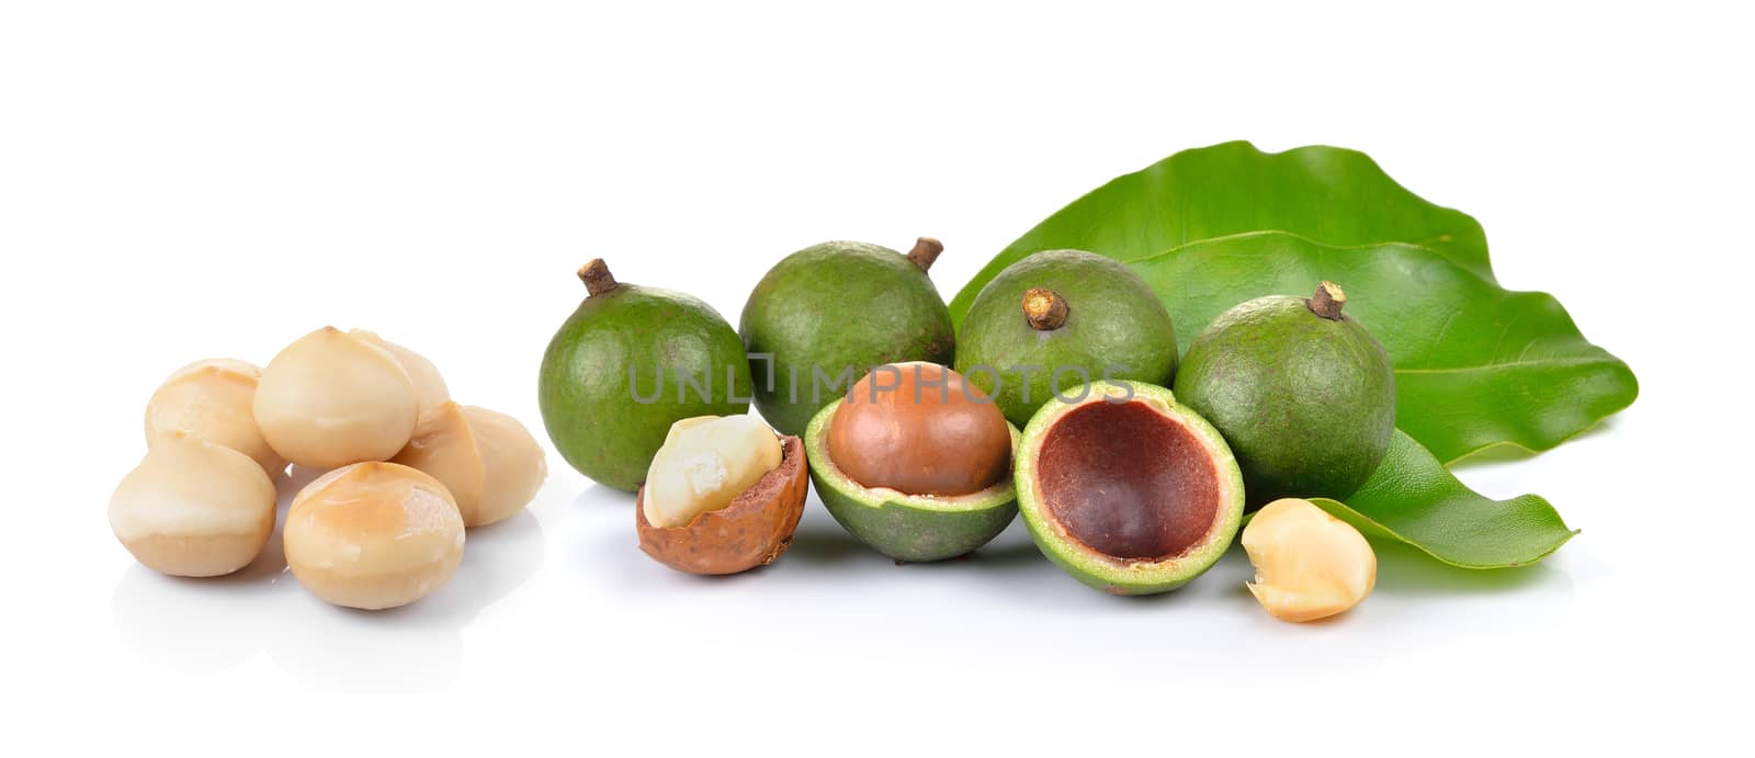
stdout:
[(1178, 153), (1060, 209), (956, 293), (951, 321), (960, 326), (976, 293), (1032, 253), (1074, 247), (1125, 260), (1258, 230), (1334, 246), (1413, 242), (1494, 279), (1479, 223), (1422, 200), (1364, 153), (1341, 147), (1262, 153), (1250, 142), (1225, 142)]

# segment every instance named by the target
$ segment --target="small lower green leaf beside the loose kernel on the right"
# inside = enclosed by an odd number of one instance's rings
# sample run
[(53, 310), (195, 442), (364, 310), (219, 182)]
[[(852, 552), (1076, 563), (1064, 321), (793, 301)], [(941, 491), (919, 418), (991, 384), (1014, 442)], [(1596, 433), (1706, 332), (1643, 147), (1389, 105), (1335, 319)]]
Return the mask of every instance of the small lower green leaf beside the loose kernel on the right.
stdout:
[(1406, 542), (1462, 568), (1536, 563), (1578, 533), (1537, 495), (1488, 500), (1469, 490), (1402, 432), (1371, 481), (1344, 504), (1311, 502), (1365, 537)]

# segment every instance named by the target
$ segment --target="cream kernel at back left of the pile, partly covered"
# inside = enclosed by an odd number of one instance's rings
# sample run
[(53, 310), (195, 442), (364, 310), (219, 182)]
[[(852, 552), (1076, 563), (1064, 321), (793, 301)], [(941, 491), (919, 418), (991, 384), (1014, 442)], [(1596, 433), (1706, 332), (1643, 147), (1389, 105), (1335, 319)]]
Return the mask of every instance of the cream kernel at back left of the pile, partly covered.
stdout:
[(286, 470), (256, 428), (256, 383), (261, 368), (230, 358), (209, 358), (177, 368), (146, 404), (146, 444), (172, 432), (232, 447), (256, 460), (269, 477)]

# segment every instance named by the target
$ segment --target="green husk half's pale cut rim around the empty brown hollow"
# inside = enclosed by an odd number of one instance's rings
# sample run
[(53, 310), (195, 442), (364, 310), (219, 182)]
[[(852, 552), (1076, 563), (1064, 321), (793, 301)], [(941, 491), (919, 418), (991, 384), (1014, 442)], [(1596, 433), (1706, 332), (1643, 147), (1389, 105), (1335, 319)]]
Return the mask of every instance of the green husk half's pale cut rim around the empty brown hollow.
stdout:
[[(1106, 400), (1107, 397), (1128, 397), (1128, 393), (1134, 397), (1130, 402), (1146, 402), (1155, 405), (1158, 412), (1178, 418), (1207, 446), (1213, 467), (1218, 470), (1220, 509), (1216, 525), (1206, 542), (1193, 546), (1186, 554), (1176, 558), (1118, 561), (1090, 549), (1069, 537), (1060, 523), (1049, 516), (1048, 504), (1042, 502), (1035, 486), (1042, 439), (1055, 419), (1079, 405), (1109, 402)], [(1067, 395), (1078, 397), (1079, 393)], [(1023, 525), (1030, 528), (1030, 539), (1035, 540), (1035, 547), (1074, 579), (1109, 595), (1158, 595), (1188, 584), (1200, 574), (1206, 574), (1207, 568), (1213, 568), (1213, 563), (1218, 563), (1218, 558), (1230, 547), (1232, 539), (1237, 537), (1237, 528), (1243, 525), (1244, 486), (1236, 456), (1213, 425), (1186, 405), (1178, 404), (1176, 397), (1162, 386), (1130, 383), (1130, 390), (1121, 391), (1120, 384), (1092, 383), (1083, 400), (1065, 402), (1057, 398), (1044, 404), (1035, 418), (1030, 419), (1030, 425), (1023, 428), (1013, 479), (1018, 486), (1018, 509), (1023, 512)]]

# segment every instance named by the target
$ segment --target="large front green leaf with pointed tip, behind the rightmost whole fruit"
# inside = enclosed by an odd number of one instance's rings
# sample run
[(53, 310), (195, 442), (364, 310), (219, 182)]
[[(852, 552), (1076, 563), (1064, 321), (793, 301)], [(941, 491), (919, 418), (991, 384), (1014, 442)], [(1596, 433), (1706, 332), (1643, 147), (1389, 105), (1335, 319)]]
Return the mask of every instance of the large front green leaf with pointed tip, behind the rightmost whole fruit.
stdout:
[(1127, 263), (1164, 298), (1183, 351), (1239, 302), (1339, 282), (1395, 367), (1397, 426), (1444, 461), (1501, 442), (1553, 447), (1639, 395), (1627, 363), (1587, 342), (1553, 297), (1506, 291), (1425, 247), (1255, 232)]

